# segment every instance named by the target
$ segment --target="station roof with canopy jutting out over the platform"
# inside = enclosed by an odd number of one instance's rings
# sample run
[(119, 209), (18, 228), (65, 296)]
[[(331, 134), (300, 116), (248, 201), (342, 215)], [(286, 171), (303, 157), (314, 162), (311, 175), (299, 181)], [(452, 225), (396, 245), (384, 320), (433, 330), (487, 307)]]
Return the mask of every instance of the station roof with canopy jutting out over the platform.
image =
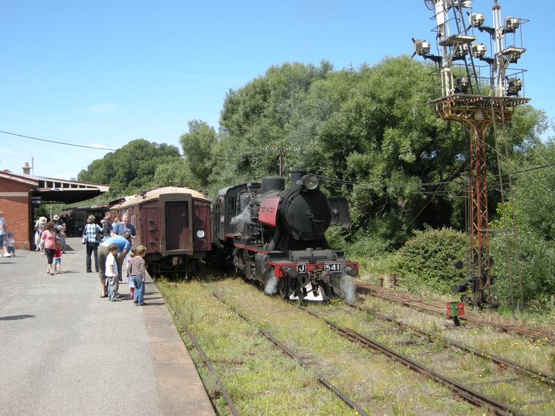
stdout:
[(16, 175), (10, 171), (0, 171), (0, 177), (34, 185), (31, 197), (40, 197), (41, 203), (75, 204), (102, 195), (110, 190), (110, 185), (77, 182), (33, 175)]

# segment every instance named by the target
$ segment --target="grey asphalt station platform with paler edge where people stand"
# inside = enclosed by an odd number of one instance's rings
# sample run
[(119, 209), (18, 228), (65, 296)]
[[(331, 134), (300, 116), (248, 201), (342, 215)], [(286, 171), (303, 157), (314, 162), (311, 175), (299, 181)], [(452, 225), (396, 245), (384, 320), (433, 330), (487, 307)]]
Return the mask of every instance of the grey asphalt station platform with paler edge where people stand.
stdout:
[(146, 306), (125, 278), (110, 302), (85, 245), (67, 243), (53, 276), (40, 252), (0, 258), (0, 414), (214, 415), (153, 281)]

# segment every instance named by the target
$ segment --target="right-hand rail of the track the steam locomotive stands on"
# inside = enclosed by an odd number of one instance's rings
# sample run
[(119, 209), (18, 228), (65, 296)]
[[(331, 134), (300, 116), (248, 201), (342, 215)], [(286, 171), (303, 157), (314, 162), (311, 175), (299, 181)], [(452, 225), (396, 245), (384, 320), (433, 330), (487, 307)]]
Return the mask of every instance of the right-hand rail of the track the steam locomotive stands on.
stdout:
[[(349, 304), (349, 306), (351, 306), (352, 308), (361, 309), (361, 308), (359, 308), (359, 306), (355, 306), (355, 305), (352, 305), (352, 304)], [(526, 374), (527, 376), (531, 376), (534, 379), (538, 379), (539, 381), (543, 381), (543, 383), (546, 383), (548, 385), (555, 385), (555, 377), (552, 376), (552, 374), (547, 374), (545, 372), (541, 372), (540, 370), (535, 370), (531, 367), (527, 367), (525, 365), (515, 363), (514, 361), (496, 356), (495, 354), (490, 354), (490, 353), (488, 353), (488, 352), (486, 352), (482, 349), (471, 347), (470, 345), (466, 345), (466, 344), (463, 344), (463, 343), (459, 343), (459, 341), (452, 340), (450, 338), (446, 338), (446, 337), (443, 337), (443, 336), (439, 336), (439, 335), (436, 335), (434, 333), (429, 333), (429, 332), (425, 331), (424, 329), (413, 327), (412, 325), (405, 324), (401, 321), (395, 320), (395, 319), (393, 319), (391, 317), (388, 317), (386, 315), (382, 315), (382, 313), (377, 313), (377, 312), (374, 312), (374, 311), (370, 311), (369, 309), (361, 309), (361, 310), (364, 311), (364, 312), (372, 313), (373, 315), (377, 316), (378, 318), (386, 320), (388, 322), (391, 322), (391, 323), (397, 325), (400, 328), (408, 329), (412, 333), (415, 333), (415, 334), (418, 334), (422, 337), (428, 338), (428, 340), (430, 340), (430, 341), (438, 340), (438, 341), (441, 341), (441, 343), (444, 343), (444, 344), (447, 344), (447, 345), (453, 345), (454, 347), (457, 347), (457, 348), (461, 349), (464, 352), (468, 352), (470, 354), (474, 354), (475, 356), (479, 356), (481, 358), (485, 358), (485, 359), (488, 359), (490, 361), (493, 361), (493, 363), (496, 363), (497, 365), (511, 367), (514, 370), (517, 370), (518, 372), (522, 372), (522, 373)]]

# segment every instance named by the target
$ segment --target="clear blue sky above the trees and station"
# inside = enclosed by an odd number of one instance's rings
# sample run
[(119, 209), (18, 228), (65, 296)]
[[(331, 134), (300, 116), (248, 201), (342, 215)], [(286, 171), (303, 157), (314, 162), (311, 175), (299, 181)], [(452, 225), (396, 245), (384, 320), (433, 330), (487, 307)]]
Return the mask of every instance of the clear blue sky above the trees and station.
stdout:
[[(499, 5), (503, 17), (530, 20), (518, 67), (531, 104), (555, 117), (555, 2)], [(493, 25), (493, 0), (472, 6)], [(180, 148), (187, 121), (217, 129), (226, 92), (272, 64), (325, 59), (341, 69), (411, 54), (411, 37), (434, 46), (431, 17), (423, 0), (0, 0), (0, 130)], [(33, 157), (35, 175), (69, 179), (107, 152), (0, 133), (0, 171), (22, 173)]]

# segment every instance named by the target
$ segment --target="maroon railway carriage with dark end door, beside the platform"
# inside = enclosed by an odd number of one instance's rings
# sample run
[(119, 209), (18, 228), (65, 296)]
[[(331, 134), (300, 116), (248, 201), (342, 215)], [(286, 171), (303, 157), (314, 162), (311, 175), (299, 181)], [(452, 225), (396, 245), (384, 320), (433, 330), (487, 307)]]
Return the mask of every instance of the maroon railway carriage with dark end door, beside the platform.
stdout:
[[(133, 245), (144, 245), (151, 275), (198, 272), (211, 249), (210, 200), (188, 188), (144, 191), (114, 207), (137, 229)], [(112, 208), (113, 209), (113, 208)]]

